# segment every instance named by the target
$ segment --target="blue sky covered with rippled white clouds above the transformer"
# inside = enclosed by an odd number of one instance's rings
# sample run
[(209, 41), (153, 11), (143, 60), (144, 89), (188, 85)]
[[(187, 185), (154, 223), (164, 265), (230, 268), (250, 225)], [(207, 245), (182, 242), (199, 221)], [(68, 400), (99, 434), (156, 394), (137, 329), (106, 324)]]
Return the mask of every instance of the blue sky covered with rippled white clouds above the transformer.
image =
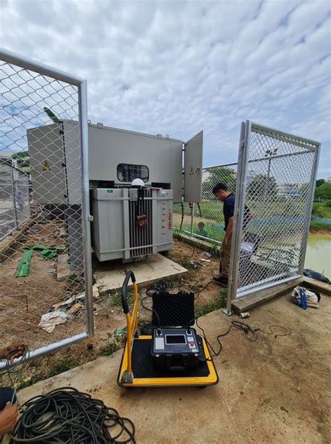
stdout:
[(323, 143), (331, 176), (330, 1), (0, 0), (1, 46), (88, 80), (89, 119), (237, 160), (242, 120)]

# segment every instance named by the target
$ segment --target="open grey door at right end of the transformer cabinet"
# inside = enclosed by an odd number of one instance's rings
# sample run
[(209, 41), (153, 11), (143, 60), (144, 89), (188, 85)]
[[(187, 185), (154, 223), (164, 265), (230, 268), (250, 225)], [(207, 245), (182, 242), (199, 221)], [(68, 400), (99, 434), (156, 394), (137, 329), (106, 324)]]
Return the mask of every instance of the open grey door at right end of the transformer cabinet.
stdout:
[(184, 202), (201, 201), (203, 177), (203, 131), (185, 143), (184, 150)]

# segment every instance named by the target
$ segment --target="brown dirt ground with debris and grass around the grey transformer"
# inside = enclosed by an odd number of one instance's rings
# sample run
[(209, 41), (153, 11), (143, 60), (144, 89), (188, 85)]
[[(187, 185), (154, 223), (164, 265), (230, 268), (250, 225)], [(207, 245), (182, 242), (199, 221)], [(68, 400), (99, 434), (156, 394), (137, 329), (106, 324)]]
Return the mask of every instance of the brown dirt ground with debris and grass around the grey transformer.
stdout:
[[(57, 258), (42, 259), (34, 252), (29, 276), (15, 278), (17, 263), (22, 257), (22, 248), (34, 244), (64, 245), (64, 239), (59, 237), (60, 228), (61, 222), (35, 224), (20, 241), (21, 248), (15, 250), (10, 259), (1, 265), (0, 300), (1, 308), (5, 308), (0, 311), (1, 343), (24, 341), (33, 350), (84, 331), (84, 307), (71, 320), (55, 327), (50, 334), (38, 327), (41, 315), (54, 303), (83, 292), (82, 283), (75, 282), (73, 278), (67, 282), (57, 281)], [(170, 291), (177, 292), (180, 288), (193, 292), (196, 295), (196, 306), (200, 307), (219, 298), (222, 288), (214, 283), (207, 285), (212, 276), (217, 275), (219, 258), (207, 257), (203, 255), (203, 250), (177, 240), (174, 241), (174, 247), (168, 257), (188, 269), (184, 277), (172, 281)], [(202, 259), (210, 262), (202, 262)], [(201, 266), (193, 268), (191, 262), (197, 262)], [(140, 289), (140, 299), (146, 296), (145, 292), (146, 288)], [(47, 378), (54, 373), (94, 360), (100, 355), (110, 354), (114, 350), (112, 345), (114, 341), (113, 338), (109, 340), (108, 335), (126, 326), (118, 294), (110, 292), (95, 300), (95, 334), (89, 339), (88, 347), (86, 342), (78, 343), (47, 355), (41, 362), (32, 362), (24, 371), (20, 385), (24, 387), (35, 380)], [(148, 299), (144, 305), (149, 307)], [(140, 321), (150, 320), (150, 317), (151, 313), (140, 306)], [(115, 342), (116, 348), (122, 346), (122, 338), (117, 338)], [(6, 382), (6, 377), (4, 381)]]

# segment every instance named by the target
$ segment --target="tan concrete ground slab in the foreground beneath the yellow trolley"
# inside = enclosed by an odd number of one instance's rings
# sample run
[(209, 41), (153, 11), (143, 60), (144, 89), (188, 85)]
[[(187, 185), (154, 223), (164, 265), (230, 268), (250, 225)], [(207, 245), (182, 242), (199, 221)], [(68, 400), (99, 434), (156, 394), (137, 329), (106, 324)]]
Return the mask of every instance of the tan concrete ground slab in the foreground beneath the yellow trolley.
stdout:
[[(117, 371), (122, 352), (23, 389), (21, 402), (51, 389), (72, 386), (103, 399), (135, 423), (136, 441), (172, 443), (330, 443), (331, 299), (320, 308), (302, 310), (281, 297), (251, 313), (247, 323), (273, 334), (247, 341), (241, 331), (221, 338), (214, 358), (220, 382), (214, 387), (121, 389)], [(220, 311), (199, 324), (217, 350), (216, 336), (231, 320)]]

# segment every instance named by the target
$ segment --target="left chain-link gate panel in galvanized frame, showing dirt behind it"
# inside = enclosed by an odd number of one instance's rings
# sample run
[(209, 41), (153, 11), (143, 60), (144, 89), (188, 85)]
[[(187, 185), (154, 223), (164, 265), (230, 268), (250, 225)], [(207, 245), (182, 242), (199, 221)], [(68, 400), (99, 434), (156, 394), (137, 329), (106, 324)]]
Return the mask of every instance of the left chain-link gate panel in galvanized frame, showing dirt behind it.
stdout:
[(94, 331), (86, 82), (10, 52), (0, 81), (0, 342), (36, 357)]

